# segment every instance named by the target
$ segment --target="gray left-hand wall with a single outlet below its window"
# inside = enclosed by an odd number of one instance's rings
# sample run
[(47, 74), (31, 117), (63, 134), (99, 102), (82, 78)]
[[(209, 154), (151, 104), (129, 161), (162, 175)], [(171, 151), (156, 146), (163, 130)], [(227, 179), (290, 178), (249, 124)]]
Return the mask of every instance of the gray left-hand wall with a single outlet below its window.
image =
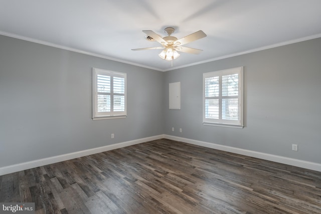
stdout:
[[(127, 118), (91, 119), (92, 67), (127, 73)], [(164, 134), (163, 77), (0, 36), (0, 167)]]

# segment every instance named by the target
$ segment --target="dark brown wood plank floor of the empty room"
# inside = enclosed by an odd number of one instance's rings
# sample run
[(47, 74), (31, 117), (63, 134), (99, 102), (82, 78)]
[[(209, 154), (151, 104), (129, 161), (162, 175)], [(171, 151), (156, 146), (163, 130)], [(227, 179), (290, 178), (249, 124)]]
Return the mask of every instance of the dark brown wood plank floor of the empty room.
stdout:
[(0, 176), (36, 213), (321, 213), (321, 172), (161, 139)]

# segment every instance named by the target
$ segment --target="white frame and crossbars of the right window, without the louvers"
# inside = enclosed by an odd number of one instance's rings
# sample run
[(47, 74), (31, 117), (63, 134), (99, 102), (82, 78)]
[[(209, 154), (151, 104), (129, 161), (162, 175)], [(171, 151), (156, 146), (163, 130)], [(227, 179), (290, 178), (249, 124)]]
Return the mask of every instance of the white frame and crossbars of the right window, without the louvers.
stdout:
[[(222, 127), (232, 127), (232, 128), (243, 128), (244, 127), (244, 68), (237, 67), (213, 72), (203, 73), (203, 124), (211, 126), (222, 126)], [(237, 96), (222, 96), (222, 76), (238, 74), (238, 95)], [(213, 96), (215, 98), (206, 97), (206, 79), (219, 77), (219, 96)], [(228, 99), (238, 99), (238, 119), (237, 120), (228, 120), (222, 118), (222, 100)], [(206, 100), (218, 100), (219, 101), (219, 118), (206, 118)]]

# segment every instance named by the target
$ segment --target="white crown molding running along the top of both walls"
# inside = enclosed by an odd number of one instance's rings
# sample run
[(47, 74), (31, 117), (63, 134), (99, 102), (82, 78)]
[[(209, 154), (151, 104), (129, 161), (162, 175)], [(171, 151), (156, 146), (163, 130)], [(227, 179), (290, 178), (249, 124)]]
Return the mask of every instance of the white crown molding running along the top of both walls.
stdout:
[(307, 41), (307, 40), (313, 40), (313, 39), (321, 37), (321, 34), (315, 34), (315, 35), (312, 35), (312, 36), (302, 37), (302, 38), (298, 38), (298, 39), (294, 39), (294, 40), (290, 40), (290, 41), (276, 43), (276, 44), (273, 44), (273, 45), (263, 46), (263, 47), (260, 47), (260, 48), (255, 48), (255, 49), (251, 49), (251, 50), (247, 50), (247, 51), (243, 51), (243, 52), (238, 52), (238, 53), (229, 54), (229, 55), (225, 55), (225, 56), (221, 56), (221, 57), (216, 57), (216, 58), (212, 58), (212, 59), (208, 59), (208, 60), (204, 60), (204, 61), (200, 61), (200, 62), (196, 62), (196, 63), (191, 63), (191, 64), (187, 64), (187, 65), (172, 67), (172, 68), (168, 68), (168, 69), (159, 69), (159, 68), (145, 66), (145, 65), (138, 64), (138, 63), (125, 61), (125, 60), (119, 60), (119, 59), (108, 57), (108, 56), (105, 56), (105, 55), (94, 54), (94, 53), (91, 53), (91, 52), (82, 51), (82, 50), (75, 49), (75, 48), (69, 48), (69, 47), (66, 47), (66, 46), (63, 46), (63, 45), (57, 45), (57, 44), (45, 42), (45, 41), (42, 41), (42, 40), (36, 40), (36, 39), (29, 38), (29, 37), (24, 37), (24, 36), (20, 36), (20, 35), (17, 35), (17, 34), (4, 32), (4, 31), (0, 31), (0, 35), (16, 38), (16, 39), (20, 39), (20, 40), (25, 40), (25, 41), (29, 41), (29, 42), (33, 42), (33, 43), (38, 43), (38, 44), (42, 44), (42, 45), (47, 45), (47, 46), (51, 46), (51, 47), (55, 47), (55, 48), (60, 48), (60, 49), (63, 49), (63, 50), (72, 51), (72, 52), (76, 52), (76, 53), (80, 53), (80, 54), (86, 54), (86, 55), (93, 56), (93, 57), (99, 57), (99, 58), (103, 58), (103, 59), (107, 59), (107, 60), (112, 60), (112, 61), (116, 61), (116, 62), (120, 62), (120, 63), (126, 63), (126, 64), (129, 64), (129, 65), (134, 65), (134, 66), (147, 68), (147, 69), (151, 69), (151, 70), (155, 70), (155, 71), (163, 71), (163, 72), (172, 71), (172, 70), (176, 70), (176, 69), (180, 69), (180, 68), (186, 68), (186, 67), (190, 67), (190, 66), (194, 66), (194, 65), (200, 65), (200, 64), (203, 64), (203, 63), (208, 63), (208, 62), (213, 62), (213, 61), (217, 61), (217, 60), (227, 59), (227, 58), (231, 58), (231, 57), (236, 57), (236, 56), (249, 54), (249, 53), (253, 53), (253, 52), (257, 52), (257, 51), (263, 51), (263, 50), (266, 50), (266, 49), (276, 48), (276, 47), (280, 47), (280, 46), (284, 46), (284, 45), (290, 45), (290, 44), (293, 44), (293, 43), (303, 42), (303, 41)]

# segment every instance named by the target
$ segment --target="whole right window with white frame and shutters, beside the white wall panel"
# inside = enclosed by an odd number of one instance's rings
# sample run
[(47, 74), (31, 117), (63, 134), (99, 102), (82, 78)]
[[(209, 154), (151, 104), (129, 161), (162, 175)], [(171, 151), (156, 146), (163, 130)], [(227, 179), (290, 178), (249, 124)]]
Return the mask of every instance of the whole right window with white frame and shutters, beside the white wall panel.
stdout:
[(243, 67), (203, 74), (203, 124), (243, 128)]

